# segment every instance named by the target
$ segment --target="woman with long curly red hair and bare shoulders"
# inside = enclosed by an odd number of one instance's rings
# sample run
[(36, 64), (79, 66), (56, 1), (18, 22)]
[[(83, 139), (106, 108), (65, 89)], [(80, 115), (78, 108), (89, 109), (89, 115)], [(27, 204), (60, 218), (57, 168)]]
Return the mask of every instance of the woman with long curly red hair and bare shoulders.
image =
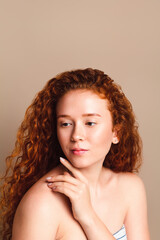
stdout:
[(102, 71), (51, 79), (27, 109), (7, 165), (3, 239), (149, 240), (135, 117)]

